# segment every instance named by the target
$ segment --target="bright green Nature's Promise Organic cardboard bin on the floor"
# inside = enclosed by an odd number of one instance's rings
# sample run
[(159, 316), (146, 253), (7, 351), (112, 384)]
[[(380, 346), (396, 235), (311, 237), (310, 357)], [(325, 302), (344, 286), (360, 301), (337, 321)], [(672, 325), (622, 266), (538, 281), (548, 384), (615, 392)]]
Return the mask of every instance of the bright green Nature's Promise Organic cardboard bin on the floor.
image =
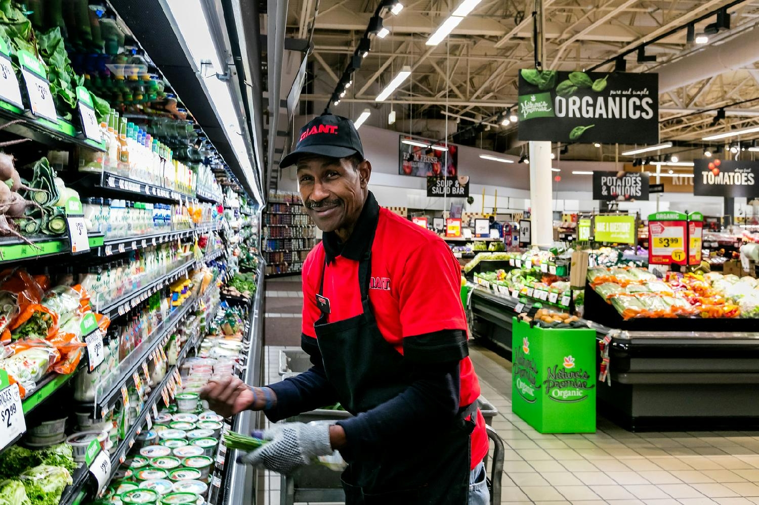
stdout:
[(512, 411), (540, 433), (596, 431), (596, 332), (513, 320)]

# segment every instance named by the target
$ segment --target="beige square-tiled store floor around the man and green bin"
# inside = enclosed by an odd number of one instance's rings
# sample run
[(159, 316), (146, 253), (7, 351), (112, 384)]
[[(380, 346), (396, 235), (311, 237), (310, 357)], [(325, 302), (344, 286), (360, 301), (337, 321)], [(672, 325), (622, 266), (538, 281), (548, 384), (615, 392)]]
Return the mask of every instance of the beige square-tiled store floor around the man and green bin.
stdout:
[[(279, 380), (282, 348), (266, 347), (269, 381)], [(759, 504), (759, 431), (636, 434), (599, 419), (594, 434), (540, 434), (511, 412), (511, 363), (476, 343), (471, 357), (483, 397), (498, 409), (502, 503)], [(264, 479), (261, 503), (280, 505), (279, 475)]]

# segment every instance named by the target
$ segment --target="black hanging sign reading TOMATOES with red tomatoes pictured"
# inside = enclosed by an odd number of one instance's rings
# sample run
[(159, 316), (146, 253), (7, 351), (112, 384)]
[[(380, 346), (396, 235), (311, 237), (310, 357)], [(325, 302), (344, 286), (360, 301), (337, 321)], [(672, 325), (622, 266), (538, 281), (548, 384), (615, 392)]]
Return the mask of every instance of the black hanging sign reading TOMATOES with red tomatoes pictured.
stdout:
[(694, 164), (694, 195), (759, 196), (759, 162), (697, 159)]

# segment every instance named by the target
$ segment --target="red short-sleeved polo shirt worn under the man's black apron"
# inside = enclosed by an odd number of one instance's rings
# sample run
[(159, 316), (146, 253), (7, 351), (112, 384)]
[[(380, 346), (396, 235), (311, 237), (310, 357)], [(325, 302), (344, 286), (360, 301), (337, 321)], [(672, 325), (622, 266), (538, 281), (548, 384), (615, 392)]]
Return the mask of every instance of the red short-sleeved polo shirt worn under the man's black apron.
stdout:
[[(308, 255), (303, 274), (303, 333), (316, 338), (313, 325), (321, 316), (316, 303), (325, 264), (320, 243)], [(417, 359), (436, 353), (436, 333), (467, 331), (461, 305), (461, 268), (449, 246), (430, 231), (407, 219), (379, 209), (379, 220), (372, 246), (369, 299), (379, 331), (395, 350), (404, 353), (404, 339), (424, 338), (414, 343)], [(336, 256), (326, 266), (323, 296), (329, 299), (329, 322), (361, 314), (358, 262)], [(407, 342), (408, 343), (408, 342)], [(425, 348), (427, 347), (427, 348)], [(411, 348), (407, 345), (407, 351)], [(459, 365), (460, 406), (468, 406), (480, 396), (480, 384), (471, 359)], [(477, 426), (471, 436), (471, 468), (487, 454), (485, 421), (477, 411)]]

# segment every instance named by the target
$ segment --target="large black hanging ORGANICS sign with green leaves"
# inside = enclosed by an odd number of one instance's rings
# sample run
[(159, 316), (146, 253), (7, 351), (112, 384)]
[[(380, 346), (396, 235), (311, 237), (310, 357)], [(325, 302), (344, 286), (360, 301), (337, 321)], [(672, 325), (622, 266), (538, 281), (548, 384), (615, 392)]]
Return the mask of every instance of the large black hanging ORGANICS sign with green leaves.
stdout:
[(519, 140), (659, 142), (659, 76), (519, 72)]

